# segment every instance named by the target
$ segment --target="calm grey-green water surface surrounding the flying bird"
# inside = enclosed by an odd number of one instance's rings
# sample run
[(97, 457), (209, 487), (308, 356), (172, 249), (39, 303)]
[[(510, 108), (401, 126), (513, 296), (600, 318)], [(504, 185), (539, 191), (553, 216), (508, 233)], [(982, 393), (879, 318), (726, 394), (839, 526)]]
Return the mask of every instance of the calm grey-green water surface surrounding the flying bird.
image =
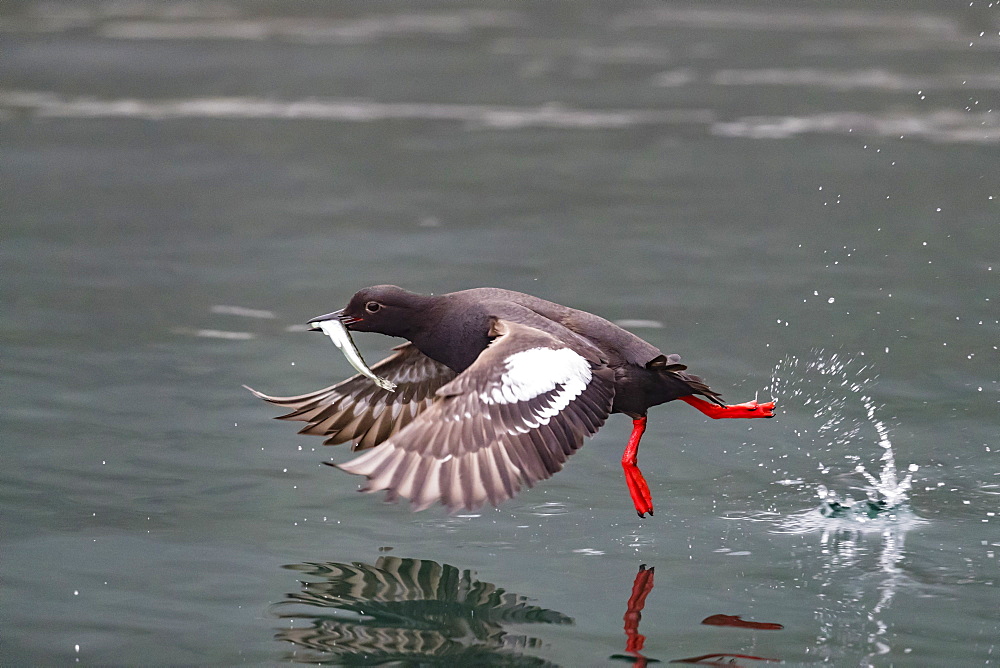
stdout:
[[(995, 664), (998, 12), (8, 3), (2, 662)], [(627, 321), (779, 416), (655, 409), (652, 519), (621, 416), (410, 514), (241, 388), (349, 375), (301, 325), (375, 283)]]

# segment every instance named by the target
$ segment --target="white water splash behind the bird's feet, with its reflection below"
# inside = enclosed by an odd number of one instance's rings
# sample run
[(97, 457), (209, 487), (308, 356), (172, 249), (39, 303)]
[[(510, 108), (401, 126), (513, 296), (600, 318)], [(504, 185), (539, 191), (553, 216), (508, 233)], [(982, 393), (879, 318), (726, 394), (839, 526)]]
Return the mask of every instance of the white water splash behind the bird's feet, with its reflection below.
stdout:
[[(879, 415), (883, 407), (870, 391), (877, 378), (871, 365), (861, 355), (812, 355), (808, 362), (788, 357), (778, 363), (770, 389), (790, 418), (785, 428), (802, 443), (799, 453), (816, 461), (820, 477), (803, 470), (794, 453), (788, 453), (791, 462), (782, 462), (786, 469), (773, 472), (776, 484), (818, 497), (819, 504), (753, 519), (769, 522), (774, 533), (819, 537), (814, 549), (825, 603), (815, 613), (820, 632), (813, 651), (839, 665), (843, 648), (861, 647), (861, 663), (870, 665), (893, 650), (887, 612), (897, 593), (917, 586), (903, 563), (907, 531), (925, 522), (909, 507), (919, 467), (910, 464), (902, 472), (897, 465)], [(801, 407), (811, 409), (818, 426), (796, 425), (803, 422)]]

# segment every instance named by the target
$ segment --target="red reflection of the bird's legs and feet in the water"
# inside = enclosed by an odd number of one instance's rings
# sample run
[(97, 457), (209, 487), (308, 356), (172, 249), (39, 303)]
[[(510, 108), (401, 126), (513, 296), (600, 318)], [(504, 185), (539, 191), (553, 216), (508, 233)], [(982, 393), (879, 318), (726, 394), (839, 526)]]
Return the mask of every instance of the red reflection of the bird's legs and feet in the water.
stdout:
[[(645, 564), (639, 566), (639, 572), (632, 583), (632, 592), (629, 595), (628, 604), (625, 607), (625, 651), (628, 654), (613, 654), (612, 659), (631, 661), (636, 668), (645, 668), (650, 663), (659, 663), (658, 659), (652, 659), (642, 654), (643, 646), (646, 643), (646, 636), (639, 633), (639, 621), (642, 619), (642, 610), (646, 606), (646, 597), (653, 591), (653, 569), (646, 568)], [(739, 615), (710, 615), (702, 620), (702, 624), (708, 626), (731, 626), (742, 629), (752, 629), (755, 631), (778, 631), (784, 627), (773, 622), (753, 622), (741, 618)], [(763, 656), (751, 656), (749, 654), (702, 654), (687, 659), (674, 659), (670, 663), (686, 663), (699, 666), (735, 666), (747, 665), (741, 663), (745, 661), (765, 661), (777, 662), (780, 659), (769, 659)]]

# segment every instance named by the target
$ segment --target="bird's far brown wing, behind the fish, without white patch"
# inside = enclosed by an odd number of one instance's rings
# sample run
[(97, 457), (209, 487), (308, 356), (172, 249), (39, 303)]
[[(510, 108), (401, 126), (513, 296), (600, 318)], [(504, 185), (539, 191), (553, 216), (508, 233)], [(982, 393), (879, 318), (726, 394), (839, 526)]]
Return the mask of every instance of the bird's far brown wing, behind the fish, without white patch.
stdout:
[(412, 343), (393, 350), (372, 371), (396, 383), (395, 392), (382, 389), (360, 374), (297, 397), (271, 397), (247, 389), (265, 401), (292, 409), (277, 419), (307, 422), (300, 434), (326, 436), (325, 445), (354, 441), (352, 450), (372, 448), (427, 410), (437, 398), (435, 392), (455, 378), (454, 371), (427, 357)]

